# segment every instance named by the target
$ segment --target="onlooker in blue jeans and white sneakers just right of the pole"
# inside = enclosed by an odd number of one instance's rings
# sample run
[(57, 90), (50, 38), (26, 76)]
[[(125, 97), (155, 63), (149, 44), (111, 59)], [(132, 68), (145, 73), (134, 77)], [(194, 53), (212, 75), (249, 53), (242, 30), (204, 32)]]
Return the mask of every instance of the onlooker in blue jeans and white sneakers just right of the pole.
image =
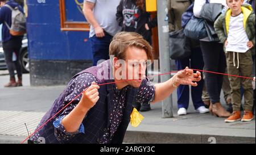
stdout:
[[(181, 30), (181, 15), (185, 12), (192, 1), (190, 0), (168, 0), (168, 16), (169, 16), (169, 30), (170, 32)], [(183, 69), (185, 66), (190, 68), (203, 69), (204, 61), (200, 49), (199, 40), (191, 41), (191, 56), (176, 60), (177, 70)], [(204, 80), (198, 82), (197, 87), (191, 87), (191, 96), (195, 110), (200, 113), (209, 112), (205, 108), (204, 102), (201, 99), (203, 92)], [(187, 115), (187, 108), (189, 105), (189, 86), (180, 85), (177, 87), (177, 115)]]

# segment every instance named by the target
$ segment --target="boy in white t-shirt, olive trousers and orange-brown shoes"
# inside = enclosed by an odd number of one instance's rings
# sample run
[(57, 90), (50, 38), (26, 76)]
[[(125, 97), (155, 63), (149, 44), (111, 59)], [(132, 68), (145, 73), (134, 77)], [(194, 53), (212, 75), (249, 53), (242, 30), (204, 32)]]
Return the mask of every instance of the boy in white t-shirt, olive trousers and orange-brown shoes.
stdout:
[[(251, 51), (255, 51), (255, 14), (243, 0), (226, 0), (229, 9), (214, 23), (215, 31), (224, 43), (228, 73), (251, 77), (253, 60)], [(249, 122), (253, 120), (253, 85), (250, 79), (229, 76), (233, 113), (225, 122)], [(241, 86), (244, 91), (245, 106), (241, 119)]]

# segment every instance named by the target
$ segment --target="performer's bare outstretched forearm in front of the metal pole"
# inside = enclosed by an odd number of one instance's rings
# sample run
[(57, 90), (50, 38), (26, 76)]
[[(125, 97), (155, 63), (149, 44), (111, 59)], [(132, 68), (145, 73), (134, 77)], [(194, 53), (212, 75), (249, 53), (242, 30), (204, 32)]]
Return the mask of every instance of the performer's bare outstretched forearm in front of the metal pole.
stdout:
[(174, 92), (174, 90), (176, 89), (174, 85), (179, 86), (177, 85), (177, 83), (174, 83), (175, 78), (176, 77), (174, 76), (168, 79), (168, 81), (166, 82), (155, 84), (155, 99), (153, 100), (152, 103), (160, 102), (161, 100), (164, 100), (169, 95), (171, 95), (172, 92)]

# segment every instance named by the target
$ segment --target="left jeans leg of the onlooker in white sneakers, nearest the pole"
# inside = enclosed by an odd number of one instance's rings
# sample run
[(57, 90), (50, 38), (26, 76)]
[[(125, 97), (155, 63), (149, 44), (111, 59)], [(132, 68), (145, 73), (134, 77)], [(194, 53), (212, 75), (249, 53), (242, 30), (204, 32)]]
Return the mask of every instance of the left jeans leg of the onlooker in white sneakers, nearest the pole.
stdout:
[[(182, 60), (176, 60), (177, 70), (184, 69), (189, 66), (189, 58), (184, 58)], [(188, 85), (180, 85), (177, 87), (177, 107), (185, 108), (187, 110), (189, 105), (189, 87)]]

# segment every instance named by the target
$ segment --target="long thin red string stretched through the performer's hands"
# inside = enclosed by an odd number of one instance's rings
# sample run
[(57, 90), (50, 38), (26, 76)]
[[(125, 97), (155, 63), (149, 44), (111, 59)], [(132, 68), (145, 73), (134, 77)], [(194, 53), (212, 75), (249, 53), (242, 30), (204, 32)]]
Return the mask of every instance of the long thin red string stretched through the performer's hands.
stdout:
[[(207, 70), (200, 70), (200, 69), (192, 69), (192, 70), (197, 70), (197, 71), (199, 71), (199, 72), (213, 73), (213, 74), (221, 74), (221, 75), (224, 75), (224, 76), (232, 76), (232, 77), (253, 79), (253, 78), (251, 78), (251, 77), (243, 77), (243, 76), (237, 76), (237, 75), (232, 75), (232, 74), (211, 72), (211, 71), (207, 71)], [(156, 74), (156, 75), (153, 75), (153, 76), (147, 76), (147, 78), (155, 77), (155, 76), (163, 76), (163, 75), (171, 74), (171, 73), (177, 73), (177, 72), (179, 72), (179, 71), (181, 71), (181, 70), (172, 71), (172, 72), (168, 72), (168, 73), (162, 73), (162, 74)], [(101, 84), (99, 84), (98, 86), (109, 85), (109, 84), (118, 83), (118, 82), (133, 81), (133, 80), (136, 80), (136, 79), (126, 79), (126, 80), (116, 81), (116, 82), (101, 83)], [(87, 87), (86, 89), (88, 89), (88, 87)], [(86, 89), (85, 89), (85, 90), (86, 90)], [(85, 91), (85, 90), (84, 90), (84, 91)], [(71, 102), (69, 102), (66, 106), (64, 106), (63, 108), (61, 108), (61, 110), (59, 110), (55, 115), (53, 115), (51, 118), (49, 118), (49, 119), (47, 120), (47, 122), (45, 122), (45, 123), (42, 124), (39, 128), (37, 128), (33, 133), (31, 133), (31, 135), (29, 135), (26, 139), (24, 139), (20, 144), (24, 143), (24, 141), (26, 141), (26, 140), (29, 139), (32, 135), (34, 135), (36, 132), (38, 132), (39, 129), (41, 129), (44, 125), (46, 125), (50, 120), (52, 120), (53, 118), (55, 118), (55, 116), (56, 116), (57, 114), (59, 114), (61, 111), (63, 111), (69, 104), (71, 104), (76, 98), (78, 98), (82, 93), (84, 93), (84, 91), (82, 91), (79, 95), (77, 95), (74, 99), (72, 99)]]

